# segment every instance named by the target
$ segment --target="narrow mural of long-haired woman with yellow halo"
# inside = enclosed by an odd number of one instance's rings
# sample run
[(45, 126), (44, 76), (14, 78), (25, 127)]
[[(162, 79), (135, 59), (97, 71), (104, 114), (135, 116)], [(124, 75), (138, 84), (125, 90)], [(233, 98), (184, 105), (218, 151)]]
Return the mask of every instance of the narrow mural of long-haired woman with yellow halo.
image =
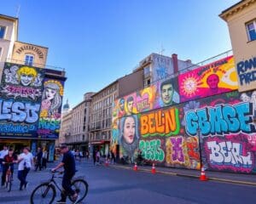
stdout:
[(64, 80), (44, 78), (44, 90), (38, 125), (38, 138), (58, 139)]

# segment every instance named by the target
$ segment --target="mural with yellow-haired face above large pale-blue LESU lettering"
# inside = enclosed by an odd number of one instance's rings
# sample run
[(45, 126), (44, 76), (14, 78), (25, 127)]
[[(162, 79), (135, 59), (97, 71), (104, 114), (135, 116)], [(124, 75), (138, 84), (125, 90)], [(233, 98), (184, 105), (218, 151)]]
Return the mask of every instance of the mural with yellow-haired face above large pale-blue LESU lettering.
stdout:
[(0, 86), (0, 137), (37, 138), (44, 70), (5, 63)]

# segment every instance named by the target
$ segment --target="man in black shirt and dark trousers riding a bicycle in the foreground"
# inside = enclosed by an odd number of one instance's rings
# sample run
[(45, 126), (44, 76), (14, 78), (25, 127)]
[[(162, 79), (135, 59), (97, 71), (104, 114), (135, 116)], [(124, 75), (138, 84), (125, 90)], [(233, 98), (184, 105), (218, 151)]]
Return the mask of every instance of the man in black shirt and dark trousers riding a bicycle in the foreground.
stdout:
[(78, 194), (71, 188), (71, 179), (76, 172), (75, 159), (72, 152), (68, 150), (66, 144), (61, 145), (61, 153), (63, 154), (61, 163), (52, 169), (52, 172), (55, 172), (57, 169), (64, 167), (64, 175), (62, 178), (63, 190), (61, 192), (61, 200), (57, 201), (57, 203), (66, 203), (67, 195), (73, 195), (73, 201), (76, 201), (78, 200)]

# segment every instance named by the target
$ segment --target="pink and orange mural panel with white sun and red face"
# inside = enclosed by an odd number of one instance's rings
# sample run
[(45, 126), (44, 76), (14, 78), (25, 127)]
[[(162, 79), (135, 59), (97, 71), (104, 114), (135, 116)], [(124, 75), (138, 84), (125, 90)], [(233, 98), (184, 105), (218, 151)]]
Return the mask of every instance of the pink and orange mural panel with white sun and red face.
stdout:
[(233, 56), (178, 76), (181, 102), (222, 94), (238, 88)]

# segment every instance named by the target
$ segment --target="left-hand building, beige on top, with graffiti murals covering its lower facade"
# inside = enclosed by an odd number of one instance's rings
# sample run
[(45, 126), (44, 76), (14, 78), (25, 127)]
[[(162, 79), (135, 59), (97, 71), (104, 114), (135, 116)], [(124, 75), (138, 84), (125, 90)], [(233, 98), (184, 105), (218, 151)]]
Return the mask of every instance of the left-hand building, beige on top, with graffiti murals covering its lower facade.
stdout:
[(54, 160), (59, 138), (66, 72), (46, 65), (48, 48), (18, 41), (18, 19), (0, 14), (0, 149), (30, 146), (49, 151)]

